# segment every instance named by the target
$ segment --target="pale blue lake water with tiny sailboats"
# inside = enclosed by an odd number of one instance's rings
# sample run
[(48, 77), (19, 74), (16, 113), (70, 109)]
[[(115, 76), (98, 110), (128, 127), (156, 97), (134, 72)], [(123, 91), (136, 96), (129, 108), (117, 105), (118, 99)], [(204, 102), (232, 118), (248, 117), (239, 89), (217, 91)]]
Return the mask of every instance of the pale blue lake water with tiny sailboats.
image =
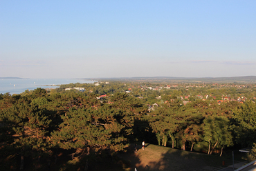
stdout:
[(59, 88), (59, 86), (53, 85), (94, 82), (85, 79), (0, 79), (0, 94), (6, 92), (20, 94), (25, 90), (35, 90), (36, 88)]

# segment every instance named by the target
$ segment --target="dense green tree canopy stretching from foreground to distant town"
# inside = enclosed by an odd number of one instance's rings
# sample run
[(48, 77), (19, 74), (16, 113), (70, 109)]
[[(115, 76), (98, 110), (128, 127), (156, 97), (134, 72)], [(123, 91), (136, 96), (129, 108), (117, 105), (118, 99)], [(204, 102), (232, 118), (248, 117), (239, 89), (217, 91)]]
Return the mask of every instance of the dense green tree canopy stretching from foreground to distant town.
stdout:
[[(77, 87), (85, 91), (65, 90)], [(88, 161), (136, 141), (221, 155), (255, 143), (254, 100), (252, 85), (118, 81), (0, 94), (1, 160), (23, 168), (30, 158), (43, 170), (40, 160), (56, 163), (62, 150)]]

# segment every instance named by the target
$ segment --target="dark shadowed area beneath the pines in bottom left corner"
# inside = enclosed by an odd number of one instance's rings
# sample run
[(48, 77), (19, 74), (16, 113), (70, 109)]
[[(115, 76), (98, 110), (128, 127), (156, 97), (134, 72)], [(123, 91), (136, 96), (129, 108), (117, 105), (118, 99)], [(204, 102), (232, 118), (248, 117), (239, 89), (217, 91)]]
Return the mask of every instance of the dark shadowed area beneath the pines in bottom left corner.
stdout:
[(31, 149), (30, 145), (1, 146), (0, 170), (60, 170), (71, 160), (73, 150), (52, 149), (51, 153)]

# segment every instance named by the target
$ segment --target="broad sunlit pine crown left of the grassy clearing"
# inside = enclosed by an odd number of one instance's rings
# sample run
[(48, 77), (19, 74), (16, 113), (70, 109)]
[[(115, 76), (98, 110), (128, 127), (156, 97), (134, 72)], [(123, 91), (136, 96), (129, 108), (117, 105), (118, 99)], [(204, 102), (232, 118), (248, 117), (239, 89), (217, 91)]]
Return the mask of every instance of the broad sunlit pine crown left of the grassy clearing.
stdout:
[(128, 146), (125, 117), (125, 113), (111, 105), (97, 109), (72, 108), (62, 117), (60, 131), (52, 134), (53, 143), (64, 149), (125, 150)]

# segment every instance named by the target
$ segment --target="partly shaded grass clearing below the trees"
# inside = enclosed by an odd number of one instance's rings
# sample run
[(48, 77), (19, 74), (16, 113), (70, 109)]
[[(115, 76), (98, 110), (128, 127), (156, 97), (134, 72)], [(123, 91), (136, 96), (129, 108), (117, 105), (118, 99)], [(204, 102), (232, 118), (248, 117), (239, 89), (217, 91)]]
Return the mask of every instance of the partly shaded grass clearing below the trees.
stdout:
[[(243, 161), (241, 152), (235, 151), (235, 163)], [(118, 154), (118, 157), (129, 163), (129, 168), (124, 170), (220, 170), (232, 165), (232, 151), (225, 151), (222, 157), (219, 154), (202, 154), (188, 152), (160, 145), (147, 144), (145, 150), (139, 149), (134, 153), (132, 148), (129, 152)], [(223, 165), (223, 162), (225, 165)]]

